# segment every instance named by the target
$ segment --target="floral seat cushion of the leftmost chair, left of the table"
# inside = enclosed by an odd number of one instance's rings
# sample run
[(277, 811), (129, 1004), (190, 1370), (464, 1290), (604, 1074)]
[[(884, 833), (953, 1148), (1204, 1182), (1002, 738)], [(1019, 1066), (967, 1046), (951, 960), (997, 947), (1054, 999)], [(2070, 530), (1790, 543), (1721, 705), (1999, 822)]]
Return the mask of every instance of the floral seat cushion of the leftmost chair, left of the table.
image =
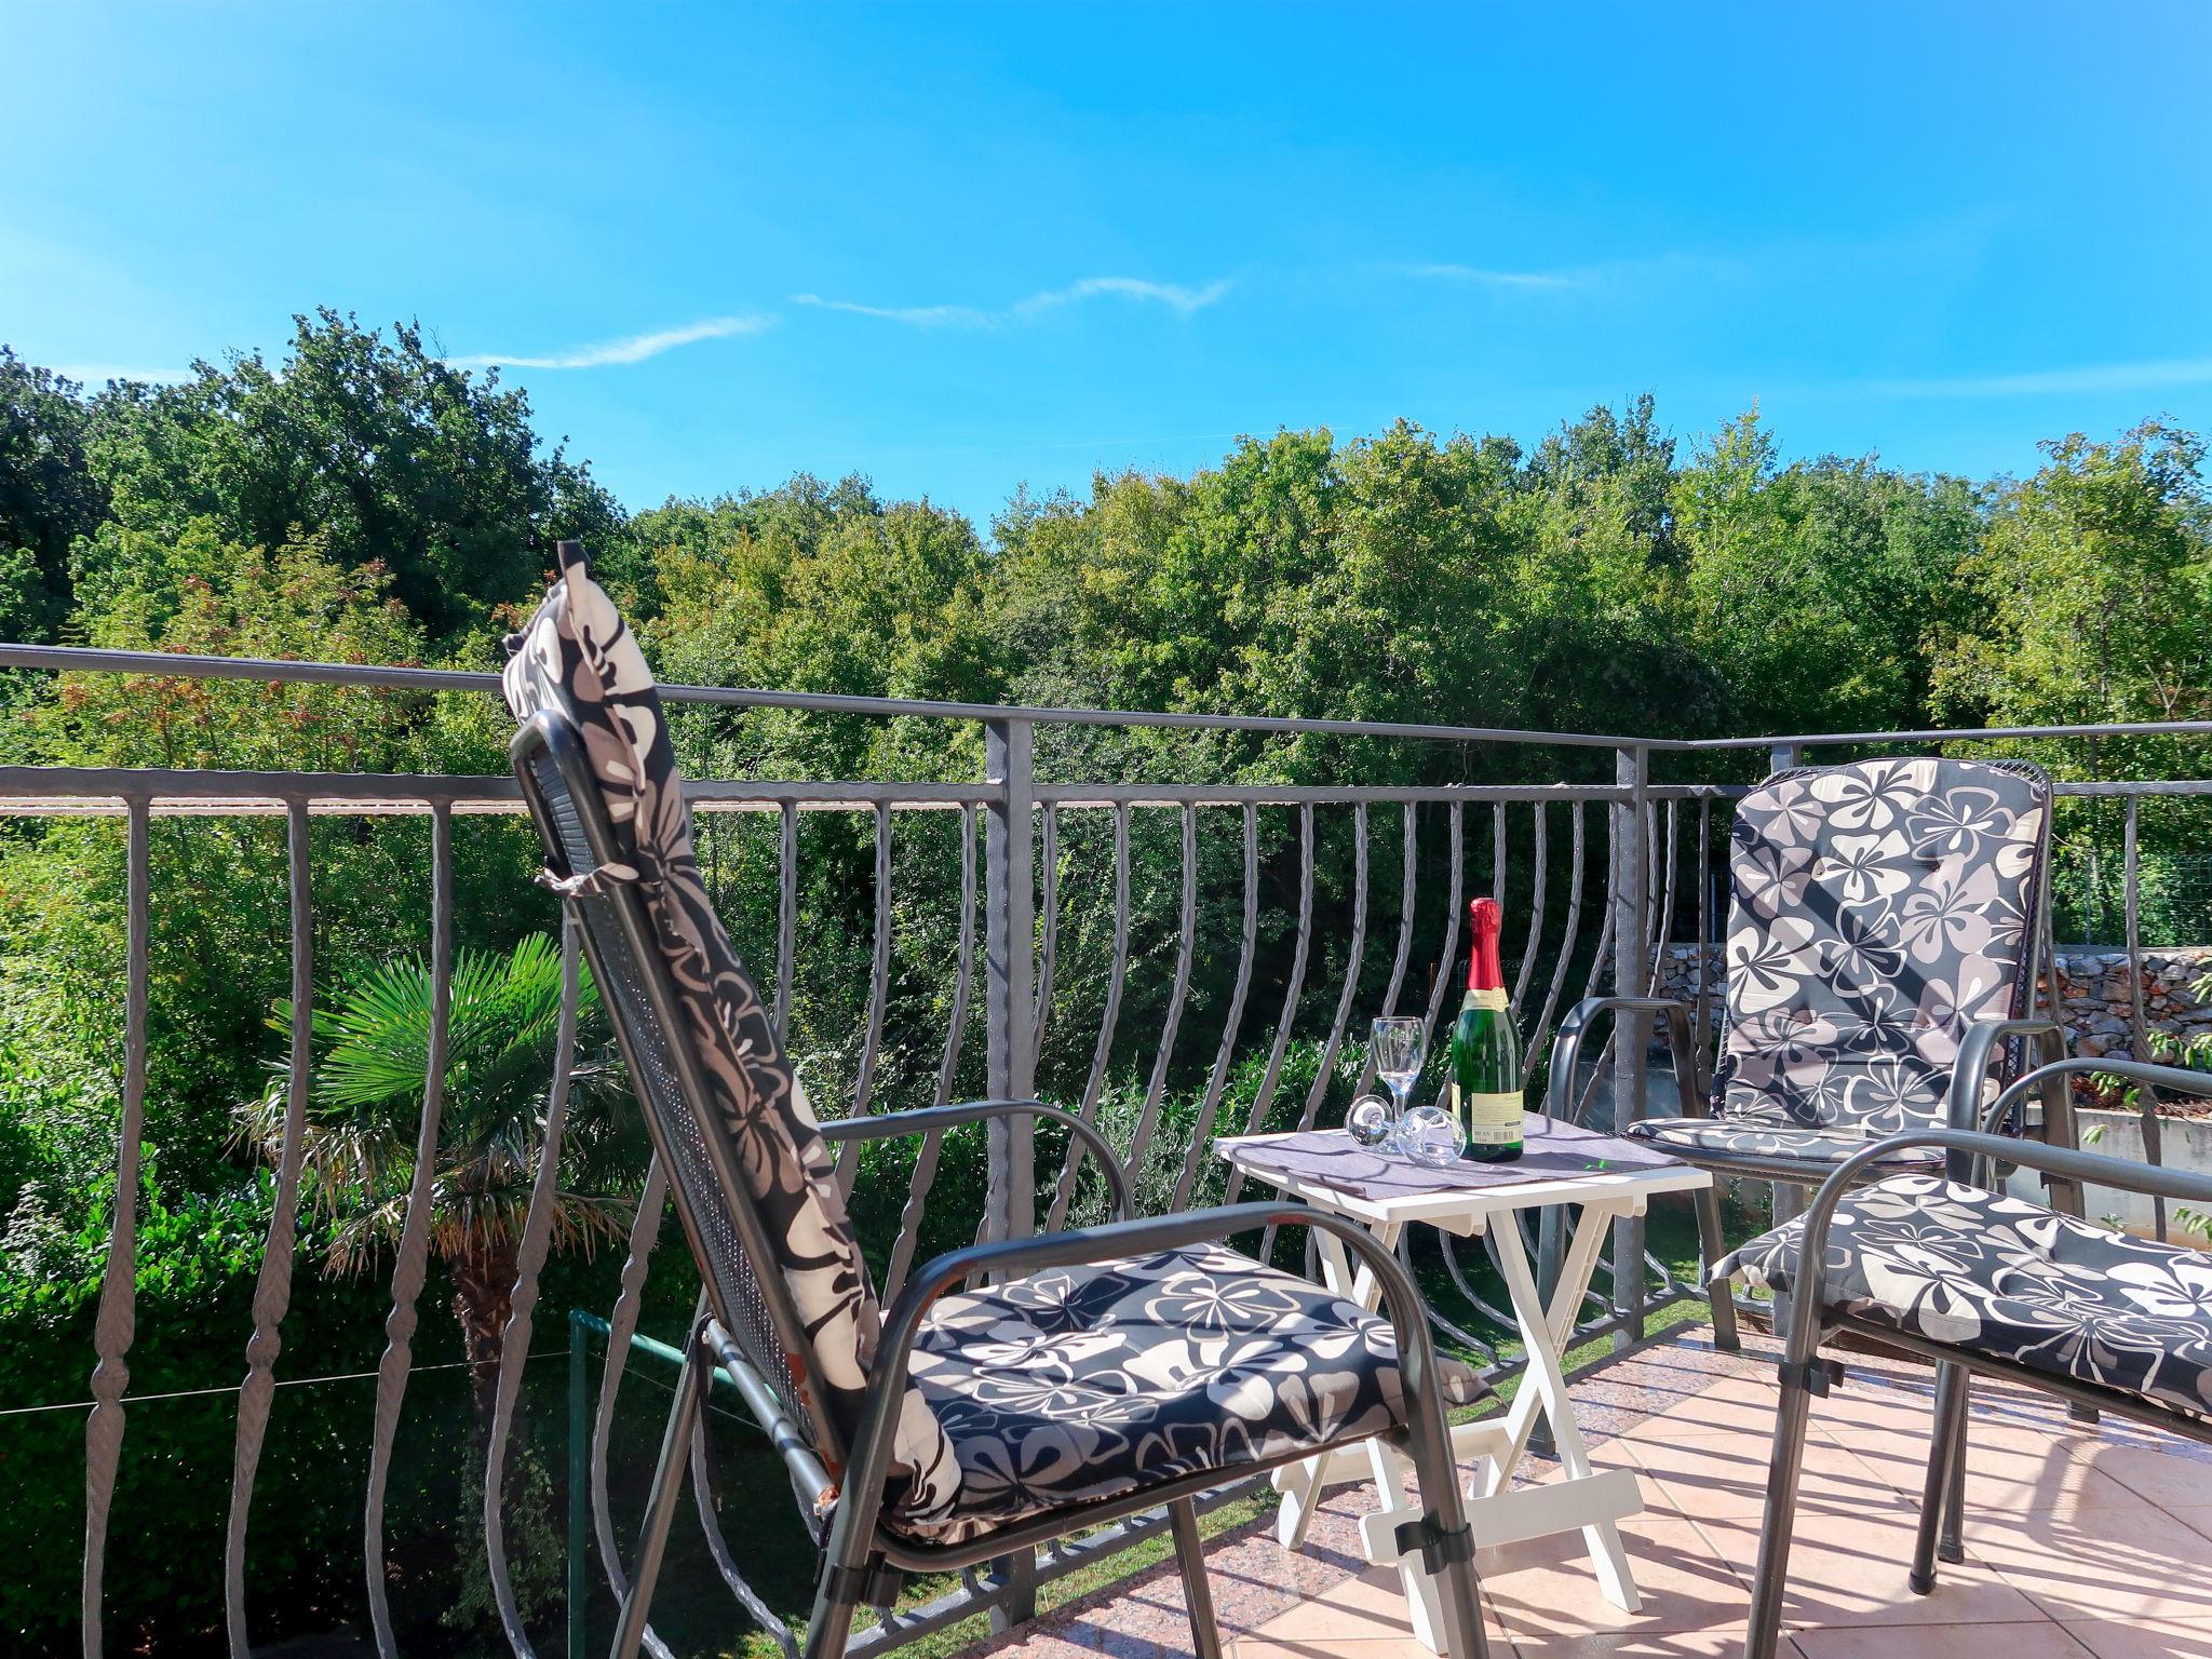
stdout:
[[(1486, 1394), (1438, 1358), (1447, 1405)], [(1407, 1420), (1387, 1318), (1223, 1245), (947, 1296), (914, 1383), (958, 1489), (920, 1513), (894, 1493), (889, 1520), (936, 1544)]]

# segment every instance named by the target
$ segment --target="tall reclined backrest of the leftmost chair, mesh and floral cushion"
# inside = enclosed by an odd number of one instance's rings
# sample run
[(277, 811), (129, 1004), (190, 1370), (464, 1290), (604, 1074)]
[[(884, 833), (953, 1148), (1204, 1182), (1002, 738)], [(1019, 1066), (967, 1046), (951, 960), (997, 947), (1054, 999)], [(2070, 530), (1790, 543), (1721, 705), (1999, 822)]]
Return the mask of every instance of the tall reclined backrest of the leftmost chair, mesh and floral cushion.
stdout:
[[(546, 880), (582, 922), (714, 1316), (838, 1478), (876, 1294), (805, 1091), (699, 878), (653, 672), (582, 551), (560, 551), (502, 677)], [(942, 1447), (927, 1409), (905, 1418), (894, 1464), (911, 1475)]]

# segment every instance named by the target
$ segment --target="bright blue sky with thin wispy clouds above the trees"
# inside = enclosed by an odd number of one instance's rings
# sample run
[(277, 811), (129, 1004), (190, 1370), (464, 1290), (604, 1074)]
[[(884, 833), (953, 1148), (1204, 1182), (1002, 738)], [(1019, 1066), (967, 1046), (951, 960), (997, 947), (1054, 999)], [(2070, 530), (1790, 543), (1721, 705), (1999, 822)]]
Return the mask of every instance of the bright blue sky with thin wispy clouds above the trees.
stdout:
[(1986, 476), (2212, 429), (2212, 7), (0, 9), (0, 341), (414, 316), (630, 507), (980, 518), (1655, 392)]

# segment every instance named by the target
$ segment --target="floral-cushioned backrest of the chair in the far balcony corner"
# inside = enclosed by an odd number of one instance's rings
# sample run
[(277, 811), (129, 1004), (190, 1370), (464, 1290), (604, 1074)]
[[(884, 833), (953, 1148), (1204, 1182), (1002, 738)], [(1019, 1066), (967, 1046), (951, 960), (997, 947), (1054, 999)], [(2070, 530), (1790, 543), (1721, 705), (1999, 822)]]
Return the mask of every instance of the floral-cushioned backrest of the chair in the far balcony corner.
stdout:
[(2048, 852), (2051, 779), (2024, 761), (1794, 768), (1743, 796), (1714, 1108), (1940, 1121), (1966, 1026), (2035, 991)]

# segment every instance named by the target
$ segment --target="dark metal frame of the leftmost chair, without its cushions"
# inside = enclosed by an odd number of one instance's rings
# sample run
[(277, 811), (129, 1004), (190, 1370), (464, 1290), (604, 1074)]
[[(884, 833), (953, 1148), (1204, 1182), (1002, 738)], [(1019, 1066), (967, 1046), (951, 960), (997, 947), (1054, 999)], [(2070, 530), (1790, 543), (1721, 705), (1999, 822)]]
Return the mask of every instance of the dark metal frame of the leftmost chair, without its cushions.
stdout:
[[(568, 849), (562, 841), (549, 783), (566, 794), (582, 827), (584, 845), (597, 865), (619, 863), (619, 845), (606, 816), (597, 781), (584, 759), (582, 739), (575, 728), (553, 710), (531, 714), (509, 745), (509, 759), (522, 783), (522, 796), (546, 847), (549, 869), (555, 876), (580, 876), (571, 867)], [(701, 1086), (701, 1064), (690, 1044), (688, 1026), (677, 1013), (675, 991), (668, 969), (655, 945), (653, 925), (644, 900), (633, 885), (615, 883), (595, 898), (604, 900), (622, 931), (628, 956), (637, 967), (646, 998), (646, 1013), (657, 1024), (657, 1037), (666, 1051), (666, 1062), (675, 1073), (677, 1091), (690, 1099), (706, 1099)], [(613, 984), (606, 975), (602, 947), (593, 927), (593, 914), (577, 894), (568, 894), (577, 916), (577, 931), (586, 956), (602, 984)], [(608, 995), (615, 1035), (633, 1077), (644, 1077), (641, 1033), (630, 1029), (633, 1011), (624, 998)], [(668, 1168), (677, 1168), (668, 1126), (650, 1104), (650, 1091), (639, 1086), (639, 1106), (655, 1152)], [(1175, 1553), (1183, 1575), (1190, 1613), (1190, 1628), (1199, 1659), (1219, 1659), (1221, 1635), (1212, 1613), (1212, 1595), (1206, 1584), (1206, 1559), (1199, 1546), (1194, 1498), (1245, 1475), (1267, 1473), (1281, 1464), (1301, 1462), (1316, 1449), (1298, 1447), (1279, 1458), (1241, 1464), (1234, 1473), (1203, 1471), (1179, 1480), (1146, 1486), (1091, 1504), (1075, 1504), (1051, 1511), (1026, 1522), (995, 1528), (964, 1544), (925, 1544), (889, 1528), (883, 1520), (883, 1489), (894, 1458), (894, 1436), (898, 1411), (907, 1389), (907, 1367), (914, 1343), (920, 1336), (929, 1307), (956, 1285), (980, 1279), (1011, 1279), (1048, 1267), (1073, 1267), (1086, 1263), (1117, 1261), (1133, 1254), (1175, 1250), (1194, 1243), (1214, 1243), (1241, 1232), (1274, 1225), (1321, 1228), (1336, 1234), (1345, 1248), (1376, 1276), (1383, 1287), (1383, 1305), (1398, 1343), (1400, 1387), (1407, 1402), (1407, 1422), (1383, 1436), (1354, 1436), (1334, 1444), (1358, 1444), (1367, 1438), (1383, 1438), (1398, 1444), (1413, 1462), (1422, 1493), (1422, 1520), (1411, 1522), (1398, 1542), (1413, 1551), (1440, 1577), (1444, 1637), (1451, 1659), (1486, 1659), (1489, 1646), (1482, 1632), (1482, 1615), (1475, 1588), (1473, 1535), (1467, 1526), (1464, 1502), (1458, 1482), (1458, 1467), (1451, 1455), (1451, 1438), (1444, 1422), (1442, 1383), (1436, 1365), (1436, 1349), (1429, 1334), (1427, 1310), (1411, 1276), (1396, 1254), (1385, 1250), (1354, 1221), (1310, 1210), (1296, 1203), (1232, 1203), (1186, 1214), (1128, 1219), (1128, 1183), (1108, 1141), (1071, 1113), (1044, 1106), (1033, 1099), (993, 1099), (960, 1106), (931, 1106), (907, 1113), (885, 1113), (872, 1119), (825, 1124), (823, 1137), (832, 1141), (878, 1139), (889, 1135), (918, 1135), (933, 1128), (971, 1124), (1024, 1113), (1064, 1124), (1106, 1172), (1113, 1194), (1115, 1221), (1099, 1228), (1042, 1234), (1033, 1239), (1004, 1239), (951, 1250), (918, 1267), (905, 1290), (883, 1314), (883, 1332), (876, 1345), (874, 1374), (869, 1378), (867, 1407), (849, 1447), (836, 1436), (836, 1425), (799, 1420), (768, 1376), (748, 1358), (732, 1336), (737, 1321), (732, 1310), (721, 1305), (723, 1292), (712, 1270), (714, 1256), (703, 1248), (701, 1219), (692, 1214), (690, 1197), (681, 1181), (670, 1181), (677, 1217), (684, 1225), (686, 1243), (701, 1267), (706, 1283), (708, 1316), (701, 1318), (688, 1340), (684, 1374), (677, 1380), (675, 1400), (668, 1411), (668, 1427), (661, 1440), (659, 1462), (653, 1473), (646, 1517), (639, 1531), (637, 1564), (622, 1601), (611, 1652), (615, 1659), (635, 1659), (646, 1635), (646, 1617), (653, 1604), (653, 1586), (659, 1575), (661, 1555), (668, 1544), (668, 1528), (675, 1520), (677, 1495), (686, 1480), (688, 1447), (699, 1420), (701, 1394), (712, 1367), (723, 1367), (737, 1383), (741, 1398), (768, 1433), (770, 1442), (785, 1460), (801, 1511), (821, 1537), (818, 1515), (830, 1513), (827, 1537), (823, 1537), (823, 1566), (814, 1595), (814, 1615), (807, 1624), (807, 1659), (841, 1659), (852, 1639), (852, 1619), (863, 1604), (889, 1606), (902, 1584), (905, 1573), (947, 1573), (969, 1568), (980, 1562), (1004, 1557), (1037, 1544), (1066, 1537), (1091, 1526), (1121, 1520), (1159, 1506), (1168, 1509)], [(774, 1245), (761, 1228), (752, 1197), (734, 1164), (734, 1148), (726, 1137), (712, 1133), (712, 1119), (699, 1115), (699, 1130), (712, 1166), (719, 1199), (737, 1230), (739, 1250), (754, 1263), (754, 1276), (763, 1296), (770, 1323), (785, 1343), (785, 1352), (805, 1354), (807, 1336), (792, 1305), (790, 1290), (774, 1272), (779, 1261)], [(765, 1270), (765, 1272), (763, 1272)], [(807, 1413), (812, 1418), (814, 1413)], [(832, 1467), (845, 1469), (843, 1489), (830, 1478)]]

